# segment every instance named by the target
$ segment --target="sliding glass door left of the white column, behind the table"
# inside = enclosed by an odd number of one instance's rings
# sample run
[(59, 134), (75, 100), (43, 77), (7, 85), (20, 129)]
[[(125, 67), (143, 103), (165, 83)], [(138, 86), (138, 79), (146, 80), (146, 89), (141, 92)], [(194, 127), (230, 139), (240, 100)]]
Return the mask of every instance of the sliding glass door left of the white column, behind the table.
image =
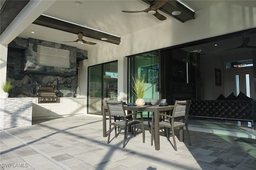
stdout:
[(117, 61), (88, 67), (88, 114), (102, 115), (102, 100), (117, 99)]

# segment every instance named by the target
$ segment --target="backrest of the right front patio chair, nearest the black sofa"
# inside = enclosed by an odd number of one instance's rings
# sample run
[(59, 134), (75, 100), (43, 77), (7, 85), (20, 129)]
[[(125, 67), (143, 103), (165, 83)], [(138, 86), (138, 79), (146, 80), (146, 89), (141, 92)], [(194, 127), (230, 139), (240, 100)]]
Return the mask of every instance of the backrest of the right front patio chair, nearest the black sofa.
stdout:
[(173, 117), (182, 117), (188, 116), (189, 107), (191, 104), (191, 100), (182, 100), (182, 101), (175, 101), (174, 108), (172, 111)]

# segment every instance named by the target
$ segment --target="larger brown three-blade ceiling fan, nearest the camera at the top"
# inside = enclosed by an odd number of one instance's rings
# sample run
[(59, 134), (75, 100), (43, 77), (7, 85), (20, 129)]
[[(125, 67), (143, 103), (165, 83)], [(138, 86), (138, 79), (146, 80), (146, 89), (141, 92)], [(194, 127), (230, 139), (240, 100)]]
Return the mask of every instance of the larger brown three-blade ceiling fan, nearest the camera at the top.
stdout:
[(136, 13), (136, 12), (146, 12), (148, 14), (154, 15), (158, 20), (166, 20), (166, 17), (157, 12), (159, 8), (161, 8), (164, 4), (166, 4), (168, 0), (158, 0), (156, 4), (150, 5), (146, 10), (142, 11), (122, 11), (122, 12), (127, 12), (127, 13)]

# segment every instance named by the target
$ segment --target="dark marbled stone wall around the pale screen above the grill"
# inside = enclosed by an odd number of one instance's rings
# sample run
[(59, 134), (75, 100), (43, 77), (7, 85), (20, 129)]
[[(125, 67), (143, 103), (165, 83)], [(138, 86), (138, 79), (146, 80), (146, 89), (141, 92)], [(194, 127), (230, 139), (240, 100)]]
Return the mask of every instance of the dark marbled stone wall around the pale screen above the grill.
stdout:
[[(72, 55), (72, 57), (70, 57), (71, 69), (52, 66), (36, 66), (37, 45), (70, 50), (70, 54)], [(9, 47), (12, 47), (13, 49), (22, 48), (26, 50), (24, 50), (23, 53), (20, 53), (9, 50)], [(56, 86), (56, 95), (58, 97), (72, 97), (72, 92), (76, 91), (78, 86), (77, 66), (79, 65), (76, 65), (76, 59), (88, 59), (87, 55), (88, 52), (86, 50), (77, 49), (76, 47), (38, 39), (24, 39), (16, 37), (8, 45), (6, 77), (12, 82), (13, 85), (12, 90), (9, 92), (9, 98), (36, 97), (37, 86), (41, 84)], [(24, 71), (24, 64), (29, 60), (32, 62), (30, 61), (30, 64), (27, 64), (27, 66), (31, 66), (32, 63), (34, 63), (35, 66), (35, 68), (30, 67), (29, 70), (33, 71), (33, 73)], [(62, 74), (62, 76), (52, 74), (54, 72), (59, 72)], [(74, 76), (67, 76), (65, 74), (74, 74)]]

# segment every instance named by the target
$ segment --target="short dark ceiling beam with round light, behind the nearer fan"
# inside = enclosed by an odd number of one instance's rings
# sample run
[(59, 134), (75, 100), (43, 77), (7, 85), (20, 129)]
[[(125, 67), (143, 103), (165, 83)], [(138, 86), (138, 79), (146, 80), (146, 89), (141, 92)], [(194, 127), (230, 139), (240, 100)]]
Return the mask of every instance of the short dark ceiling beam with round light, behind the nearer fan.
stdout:
[[(146, 2), (149, 5), (154, 5), (157, 2), (156, 0), (153, 0), (153, 1), (152, 0), (142, 0), (142, 1)], [(195, 19), (195, 16), (194, 16), (195, 13), (176, 0), (168, 0), (168, 2), (166, 4), (164, 4), (161, 8), (159, 8), (159, 10), (168, 14), (169, 16), (175, 18), (176, 20), (181, 21), (181, 22)], [(172, 15), (172, 12), (174, 12), (174, 11), (180, 11), (181, 14)]]

